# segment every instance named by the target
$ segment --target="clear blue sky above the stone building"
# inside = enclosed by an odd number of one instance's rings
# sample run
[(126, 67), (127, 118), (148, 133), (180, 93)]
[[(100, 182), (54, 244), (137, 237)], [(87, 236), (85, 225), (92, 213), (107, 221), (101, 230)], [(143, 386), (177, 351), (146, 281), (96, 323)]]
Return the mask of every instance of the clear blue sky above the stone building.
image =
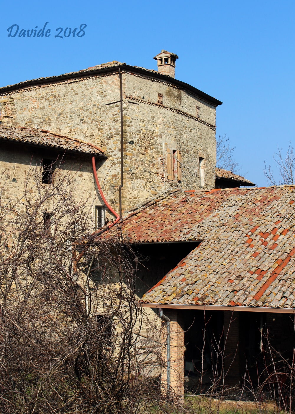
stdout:
[[(176, 78), (224, 102), (216, 134), (236, 147), (239, 173), (264, 186), (264, 161), (274, 166), (277, 146), (294, 142), (294, 17), (289, 0), (2, 2), (0, 87), (112, 60), (156, 69), (153, 56), (176, 53)], [(48, 38), (8, 37), (12, 24), (45, 22)], [(83, 37), (54, 37), (82, 23)]]

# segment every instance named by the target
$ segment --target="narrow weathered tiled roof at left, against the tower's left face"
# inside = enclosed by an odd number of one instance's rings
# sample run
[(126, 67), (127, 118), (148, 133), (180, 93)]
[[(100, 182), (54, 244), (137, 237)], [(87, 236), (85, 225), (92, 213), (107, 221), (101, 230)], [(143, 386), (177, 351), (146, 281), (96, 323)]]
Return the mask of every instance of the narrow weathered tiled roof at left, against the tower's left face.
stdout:
[(103, 154), (103, 151), (99, 147), (96, 147), (90, 142), (66, 137), (47, 130), (11, 127), (1, 123), (0, 139), (34, 145), (44, 145), (45, 147), (54, 147), (65, 151), (83, 152), (84, 154)]

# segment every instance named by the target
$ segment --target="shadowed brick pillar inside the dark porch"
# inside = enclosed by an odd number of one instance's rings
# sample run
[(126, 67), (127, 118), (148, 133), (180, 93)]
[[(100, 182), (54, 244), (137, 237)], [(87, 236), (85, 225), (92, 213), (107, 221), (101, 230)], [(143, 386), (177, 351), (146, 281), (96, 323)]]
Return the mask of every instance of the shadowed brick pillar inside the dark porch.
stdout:
[(238, 312), (224, 311), (224, 375), (226, 385), (240, 385)]

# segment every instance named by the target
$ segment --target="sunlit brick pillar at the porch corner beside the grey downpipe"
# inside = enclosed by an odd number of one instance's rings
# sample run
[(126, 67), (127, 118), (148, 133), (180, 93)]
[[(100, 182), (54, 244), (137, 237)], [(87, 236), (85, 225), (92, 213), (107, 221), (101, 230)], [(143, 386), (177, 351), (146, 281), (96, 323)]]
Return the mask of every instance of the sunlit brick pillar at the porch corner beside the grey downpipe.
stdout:
[[(184, 330), (181, 327), (179, 311), (166, 310), (164, 314), (170, 319), (170, 391), (171, 396), (184, 396)], [(164, 332), (164, 361), (162, 384), (167, 390), (167, 331)]]

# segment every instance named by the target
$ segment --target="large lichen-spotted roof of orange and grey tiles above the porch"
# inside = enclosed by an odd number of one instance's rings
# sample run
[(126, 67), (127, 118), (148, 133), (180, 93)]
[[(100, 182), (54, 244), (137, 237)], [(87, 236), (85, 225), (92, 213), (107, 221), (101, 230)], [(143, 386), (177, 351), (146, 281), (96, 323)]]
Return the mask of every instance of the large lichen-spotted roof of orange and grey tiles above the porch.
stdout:
[(201, 243), (142, 301), (295, 308), (294, 206), (295, 186), (176, 191), (150, 202), (122, 224), (131, 242)]

